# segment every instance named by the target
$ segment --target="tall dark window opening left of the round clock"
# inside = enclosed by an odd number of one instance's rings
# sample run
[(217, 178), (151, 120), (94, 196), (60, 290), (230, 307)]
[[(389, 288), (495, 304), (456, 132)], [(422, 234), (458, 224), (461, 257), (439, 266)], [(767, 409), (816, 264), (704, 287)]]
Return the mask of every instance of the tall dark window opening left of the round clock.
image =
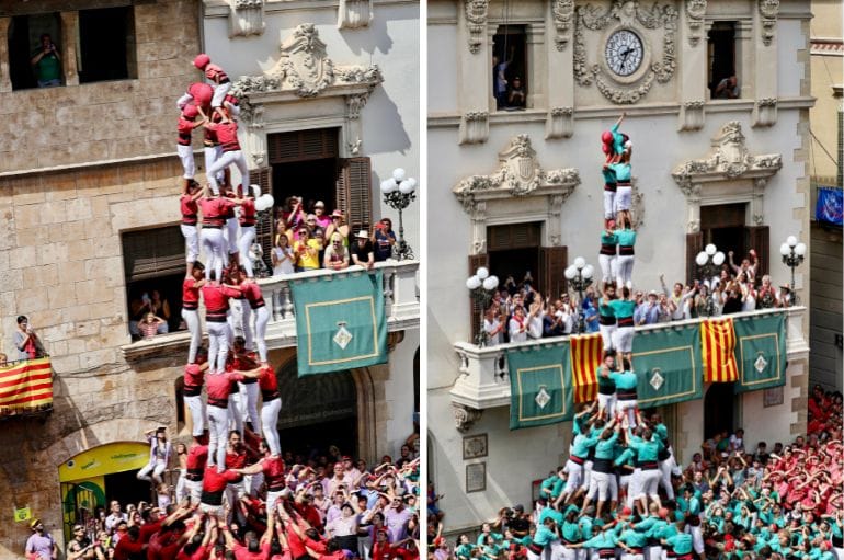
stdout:
[(525, 108), (528, 88), (526, 26), (499, 25), (492, 37), (492, 93), (495, 108)]

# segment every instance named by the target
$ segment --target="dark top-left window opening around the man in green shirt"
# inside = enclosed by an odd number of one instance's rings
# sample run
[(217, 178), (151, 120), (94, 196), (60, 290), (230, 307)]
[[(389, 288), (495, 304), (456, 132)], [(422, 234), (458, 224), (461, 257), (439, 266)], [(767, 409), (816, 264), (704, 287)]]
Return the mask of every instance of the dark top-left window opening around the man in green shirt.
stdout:
[[(42, 43), (44, 34), (49, 35), (49, 43), (56, 46), (58, 56), (47, 54), (33, 65), (32, 59), (45, 50)], [(60, 46), (61, 19), (58, 13), (12, 18), (9, 24), (9, 77), (12, 81), (12, 90), (37, 88), (39, 76), (58, 79), (58, 85), (62, 84), (64, 53)]]

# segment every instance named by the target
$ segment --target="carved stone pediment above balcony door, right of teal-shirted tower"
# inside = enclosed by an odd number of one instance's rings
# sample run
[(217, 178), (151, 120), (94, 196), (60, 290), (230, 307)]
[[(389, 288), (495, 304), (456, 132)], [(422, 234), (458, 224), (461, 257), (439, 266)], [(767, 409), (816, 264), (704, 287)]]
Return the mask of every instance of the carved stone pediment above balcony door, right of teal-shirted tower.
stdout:
[(765, 186), (782, 167), (779, 153), (751, 155), (738, 121), (725, 124), (707, 158), (681, 163), (671, 174), (686, 197), (687, 232), (700, 230), (700, 206), (710, 204), (749, 203), (753, 225), (764, 225)]

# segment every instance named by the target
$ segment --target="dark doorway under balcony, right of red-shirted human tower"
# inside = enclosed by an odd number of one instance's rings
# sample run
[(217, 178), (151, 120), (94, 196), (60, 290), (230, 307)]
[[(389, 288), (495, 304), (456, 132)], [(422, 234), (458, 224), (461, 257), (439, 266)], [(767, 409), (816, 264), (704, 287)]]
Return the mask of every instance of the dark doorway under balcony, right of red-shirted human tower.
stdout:
[(305, 458), (341, 453), (360, 455), (357, 390), (351, 372), (298, 376), (296, 359), (276, 370), (284, 396), (278, 414), (282, 450)]

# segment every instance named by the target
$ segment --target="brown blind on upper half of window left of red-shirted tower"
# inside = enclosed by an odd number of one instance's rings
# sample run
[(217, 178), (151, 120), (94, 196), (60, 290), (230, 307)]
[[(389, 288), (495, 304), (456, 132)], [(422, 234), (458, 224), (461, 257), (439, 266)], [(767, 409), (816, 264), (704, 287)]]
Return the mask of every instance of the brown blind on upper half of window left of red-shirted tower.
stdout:
[(127, 284), (184, 274), (184, 238), (179, 226), (124, 233), (123, 266)]

